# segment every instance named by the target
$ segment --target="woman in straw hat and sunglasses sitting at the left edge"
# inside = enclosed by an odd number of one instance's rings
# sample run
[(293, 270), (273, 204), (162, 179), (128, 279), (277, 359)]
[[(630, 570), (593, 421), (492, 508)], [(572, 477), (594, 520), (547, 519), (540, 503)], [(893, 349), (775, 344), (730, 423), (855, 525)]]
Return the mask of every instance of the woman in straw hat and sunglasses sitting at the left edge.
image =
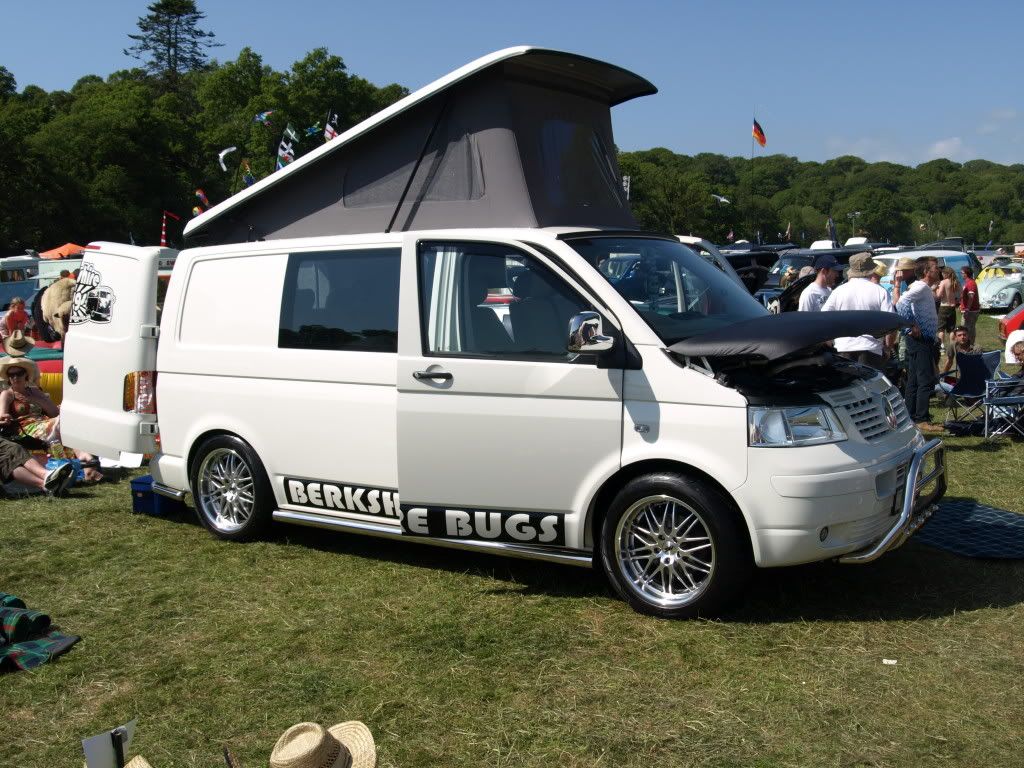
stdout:
[[(9, 439), (31, 445), (48, 447), (60, 443), (60, 409), (39, 388), (39, 369), (28, 357), (4, 357), (0, 360), (0, 380), (7, 389), (0, 392), (0, 431)], [(94, 463), (95, 457), (75, 451), (83, 463)], [(102, 479), (94, 468), (85, 470), (85, 479)]]

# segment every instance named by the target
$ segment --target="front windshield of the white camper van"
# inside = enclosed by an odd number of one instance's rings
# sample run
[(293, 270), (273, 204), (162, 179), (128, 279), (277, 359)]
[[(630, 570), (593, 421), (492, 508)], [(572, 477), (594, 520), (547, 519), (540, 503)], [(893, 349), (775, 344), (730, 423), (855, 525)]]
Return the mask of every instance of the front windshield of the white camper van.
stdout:
[(768, 313), (741, 286), (677, 241), (589, 236), (566, 243), (667, 345)]

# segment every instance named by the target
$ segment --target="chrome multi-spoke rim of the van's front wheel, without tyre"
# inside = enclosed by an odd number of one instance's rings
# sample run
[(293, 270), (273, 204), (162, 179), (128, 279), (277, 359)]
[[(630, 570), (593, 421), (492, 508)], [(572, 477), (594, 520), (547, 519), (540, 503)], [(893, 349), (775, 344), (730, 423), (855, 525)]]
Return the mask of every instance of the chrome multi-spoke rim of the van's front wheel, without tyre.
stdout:
[(615, 561), (637, 597), (658, 607), (678, 608), (711, 584), (715, 543), (691, 506), (671, 496), (649, 496), (620, 518)]

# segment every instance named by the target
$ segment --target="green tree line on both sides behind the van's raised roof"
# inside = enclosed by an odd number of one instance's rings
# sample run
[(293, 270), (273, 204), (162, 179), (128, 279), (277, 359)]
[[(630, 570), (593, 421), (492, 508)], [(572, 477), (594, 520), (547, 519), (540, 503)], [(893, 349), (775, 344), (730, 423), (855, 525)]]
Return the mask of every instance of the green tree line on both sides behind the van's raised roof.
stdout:
[[(138, 66), (105, 79), (87, 75), (70, 91), (18, 91), (0, 66), (0, 255), (69, 240), (155, 244), (165, 210), (181, 217), (169, 222), (170, 240), (180, 243), (196, 190), (215, 204), (246, 183), (243, 168), (256, 178), (271, 173), (287, 125), (301, 136), (322, 128), (331, 111), (343, 131), (409, 92), (349, 73), (325, 48), (286, 72), (250, 48), (210, 60), (217, 43), (201, 29), (194, 0), (157, 0), (146, 10), (125, 50)], [(313, 131), (298, 154), (322, 142)], [(230, 146), (225, 172), (218, 155)], [(774, 242), (788, 229), (794, 242), (809, 243), (826, 236), (831, 216), (842, 239), (1024, 242), (1024, 165), (934, 160), (910, 168), (850, 156), (814, 163), (665, 148), (618, 160), (648, 229), (719, 243), (730, 232)]]

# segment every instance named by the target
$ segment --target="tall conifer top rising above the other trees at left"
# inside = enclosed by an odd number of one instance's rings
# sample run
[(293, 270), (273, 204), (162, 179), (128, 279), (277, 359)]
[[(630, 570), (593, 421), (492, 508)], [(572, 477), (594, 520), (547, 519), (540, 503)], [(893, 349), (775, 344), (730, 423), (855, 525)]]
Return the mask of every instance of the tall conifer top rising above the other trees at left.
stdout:
[(206, 50), (219, 46), (212, 32), (199, 28), (206, 14), (196, 7), (195, 0), (157, 0), (146, 6), (148, 15), (138, 19), (138, 35), (125, 49), (126, 56), (145, 62), (145, 69), (171, 84), (181, 75), (206, 67)]

